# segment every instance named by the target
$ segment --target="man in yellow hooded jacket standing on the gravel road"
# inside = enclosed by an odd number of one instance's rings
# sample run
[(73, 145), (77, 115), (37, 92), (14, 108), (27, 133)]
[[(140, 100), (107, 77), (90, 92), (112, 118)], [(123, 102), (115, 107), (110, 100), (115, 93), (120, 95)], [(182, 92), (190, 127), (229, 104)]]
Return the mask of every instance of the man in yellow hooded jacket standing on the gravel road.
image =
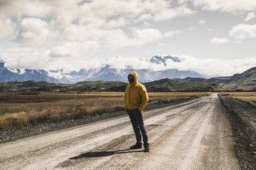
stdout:
[(130, 84), (125, 89), (125, 110), (127, 110), (127, 113), (129, 114), (131, 125), (132, 127), (134, 127), (134, 133), (137, 141), (136, 144), (131, 146), (130, 148), (142, 148), (142, 136), (145, 151), (149, 151), (147, 132), (145, 130), (142, 117), (142, 112), (146, 107), (147, 102), (149, 101), (147, 90), (145, 86), (138, 83), (138, 75), (135, 71), (129, 73), (128, 80)]

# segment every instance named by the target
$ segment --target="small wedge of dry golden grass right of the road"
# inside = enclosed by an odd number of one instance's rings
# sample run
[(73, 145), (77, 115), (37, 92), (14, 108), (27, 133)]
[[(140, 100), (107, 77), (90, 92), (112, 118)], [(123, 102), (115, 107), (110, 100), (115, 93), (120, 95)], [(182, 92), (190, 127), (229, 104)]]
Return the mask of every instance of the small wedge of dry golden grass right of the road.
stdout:
[(246, 101), (256, 107), (256, 92), (223, 92), (222, 94)]

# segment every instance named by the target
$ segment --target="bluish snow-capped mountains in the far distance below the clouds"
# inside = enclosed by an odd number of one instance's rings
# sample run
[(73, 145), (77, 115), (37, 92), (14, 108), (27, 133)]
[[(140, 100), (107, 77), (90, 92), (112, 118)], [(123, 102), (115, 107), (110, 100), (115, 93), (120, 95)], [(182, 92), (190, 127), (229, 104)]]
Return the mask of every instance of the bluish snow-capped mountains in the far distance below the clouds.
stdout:
[[(118, 58), (119, 60), (119, 58)], [(121, 60), (121, 59), (120, 59)], [(118, 68), (114, 64), (103, 64), (93, 69), (80, 69), (79, 71), (69, 71), (65, 68), (58, 70), (31, 70), (31, 69), (10, 69), (0, 62), (0, 82), (23, 82), (28, 80), (45, 81), (63, 84), (75, 84), (82, 81), (122, 81), (127, 82), (127, 75), (131, 71), (137, 71), (139, 82), (151, 82), (164, 78), (185, 78), (185, 77), (205, 77), (195, 71), (179, 71), (178, 69), (168, 69), (169, 64), (182, 62), (183, 58), (174, 56), (153, 56), (149, 64), (156, 64), (155, 70), (149, 66), (146, 69), (138, 69), (133, 66)], [(159, 69), (162, 68), (162, 69)]]

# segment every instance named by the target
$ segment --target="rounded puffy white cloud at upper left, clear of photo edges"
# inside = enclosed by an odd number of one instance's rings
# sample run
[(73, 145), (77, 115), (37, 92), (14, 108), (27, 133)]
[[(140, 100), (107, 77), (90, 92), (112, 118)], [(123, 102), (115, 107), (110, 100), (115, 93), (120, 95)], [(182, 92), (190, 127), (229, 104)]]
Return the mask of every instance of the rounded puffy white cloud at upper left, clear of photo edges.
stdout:
[(21, 21), (17, 42), (27, 43), (36, 42), (43, 43), (45, 40), (51, 40), (56, 33), (48, 29), (47, 22), (36, 18), (25, 18)]

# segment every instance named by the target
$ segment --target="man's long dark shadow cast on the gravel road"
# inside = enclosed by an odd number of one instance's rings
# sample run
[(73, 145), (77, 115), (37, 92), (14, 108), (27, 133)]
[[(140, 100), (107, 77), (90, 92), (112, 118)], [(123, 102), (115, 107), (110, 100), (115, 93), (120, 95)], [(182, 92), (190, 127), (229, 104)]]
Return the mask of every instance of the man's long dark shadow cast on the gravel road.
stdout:
[(116, 151), (89, 151), (89, 152), (86, 152), (79, 156), (72, 157), (72, 158), (70, 158), (70, 160), (76, 160), (76, 159), (81, 159), (81, 158), (92, 158), (92, 157), (104, 157), (104, 156), (111, 156), (114, 154), (128, 154), (128, 153), (133, 153), (133, 152), (142, 152), (142, 150), (134, 151), (131, 149), (122, 149), (122, 150), (116, 150)]

